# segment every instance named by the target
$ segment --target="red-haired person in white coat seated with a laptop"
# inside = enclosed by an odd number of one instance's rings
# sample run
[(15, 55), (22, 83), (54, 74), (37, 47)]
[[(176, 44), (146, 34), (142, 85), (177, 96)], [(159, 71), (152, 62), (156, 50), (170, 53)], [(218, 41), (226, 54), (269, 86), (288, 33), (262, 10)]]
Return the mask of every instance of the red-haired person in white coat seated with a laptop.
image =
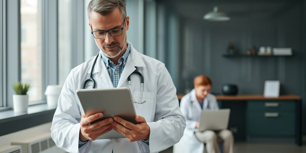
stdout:
[[(199, 127), (202, 110), (218, 110), (219, 106), (214, 95), (210, 94), (211, 79), (205, 75), (197, 76), (194, 89), (181, 99), (181, 111), (186, 118), (186, 129), (181, 141), (174, 146), (174, 152), (203, 153), (204, 145), (208, 153), (216, 153), (218, 141), (223, 142), (223, 153), (233, 153), (234, 138), (230, 130), (205, 130), (194, 132)], [(181, 147), (182, 146), (182, 147)]]

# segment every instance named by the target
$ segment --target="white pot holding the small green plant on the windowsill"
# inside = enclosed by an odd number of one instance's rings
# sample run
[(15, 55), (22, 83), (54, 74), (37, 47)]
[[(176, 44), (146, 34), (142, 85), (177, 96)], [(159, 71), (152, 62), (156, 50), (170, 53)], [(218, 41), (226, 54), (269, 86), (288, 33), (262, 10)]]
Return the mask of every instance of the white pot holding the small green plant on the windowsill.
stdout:
[(13, 108), (15, 113), (26, 113), (28, 112), (29, 106), (28, 95), (13, 95)]

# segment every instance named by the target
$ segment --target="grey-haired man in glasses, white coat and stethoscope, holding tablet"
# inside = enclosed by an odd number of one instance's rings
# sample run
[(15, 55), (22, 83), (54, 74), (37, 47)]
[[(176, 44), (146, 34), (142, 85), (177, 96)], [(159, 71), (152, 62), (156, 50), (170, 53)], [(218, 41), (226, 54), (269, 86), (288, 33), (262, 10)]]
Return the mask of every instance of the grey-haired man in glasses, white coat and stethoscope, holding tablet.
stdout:
[[(76, 90), (83, 88), (91, 74), (96, 56), (92, 57), (72, 69), (63, 85), (51, 127), (56, 145), (67, 152), (136, 153), (159, 152), (177, 143), (186, 124), (178, 106), (176, 88), (162, 62), (140, 54), (126, 40), (129, 17), (125, 1), (92, 0), (88, 17), (89, 28), (100, 48), (92, 71), (95, 88), (129, 88), (127, 78), (137, 68), (144, 78), (143, 93), (140, 77), (132, 74), (132, 96), (139, 101), (143, 94), (142, 101), (146, 102), (134, 103), (139, 122), (136, 125), (119, 117), (90, 124), (103, 113), (86, 118)], [(126, 138), (95, 140), (110, 130)]]

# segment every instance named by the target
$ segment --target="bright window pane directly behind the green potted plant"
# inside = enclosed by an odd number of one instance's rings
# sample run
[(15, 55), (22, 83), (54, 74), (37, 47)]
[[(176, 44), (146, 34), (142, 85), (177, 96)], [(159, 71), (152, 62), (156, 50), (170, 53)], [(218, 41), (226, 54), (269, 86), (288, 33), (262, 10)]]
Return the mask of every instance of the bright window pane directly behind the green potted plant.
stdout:
[(41, 1), (21, 0), (21, 82), (29, 83), (29, 102), (42, 100)]

